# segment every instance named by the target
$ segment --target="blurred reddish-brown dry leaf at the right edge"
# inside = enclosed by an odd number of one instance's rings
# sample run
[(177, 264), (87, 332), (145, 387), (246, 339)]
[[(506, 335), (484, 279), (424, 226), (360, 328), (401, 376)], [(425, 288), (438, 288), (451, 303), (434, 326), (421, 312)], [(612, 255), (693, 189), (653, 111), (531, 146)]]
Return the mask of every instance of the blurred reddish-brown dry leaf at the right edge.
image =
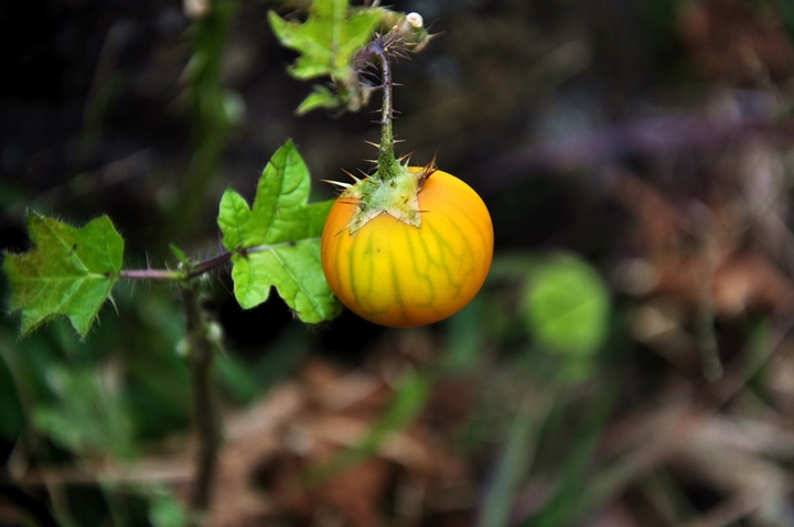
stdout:
[(773, 314), (792, 309), (792, 281), (758, 244), (742, 243), (749, 228), (742, 218), (749, 214), (740, 198), (712, 193), (700, 214), (687, 214), (626, 173), (618, 196), (636, 221), (635, 239), (650, 277), (643, 291), (647, 297), (664, 297), (689, 316), (705, 301), (725, 318), (748, 309)]

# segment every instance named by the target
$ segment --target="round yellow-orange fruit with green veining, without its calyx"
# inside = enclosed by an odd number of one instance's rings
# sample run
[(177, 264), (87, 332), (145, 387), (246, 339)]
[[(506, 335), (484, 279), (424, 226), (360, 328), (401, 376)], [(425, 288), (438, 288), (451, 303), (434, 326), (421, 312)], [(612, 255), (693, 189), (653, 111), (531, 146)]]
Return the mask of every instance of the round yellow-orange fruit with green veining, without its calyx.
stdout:
[(420, 227), (379, 214), (351, 229), (356, 185), (336, 201), (322, 235), (323, 271), (342, 303), (393, 327), (438, 322), (468, 304), (493, 257), (493, 224), (476, 192), (431, 171), (417, 194)]

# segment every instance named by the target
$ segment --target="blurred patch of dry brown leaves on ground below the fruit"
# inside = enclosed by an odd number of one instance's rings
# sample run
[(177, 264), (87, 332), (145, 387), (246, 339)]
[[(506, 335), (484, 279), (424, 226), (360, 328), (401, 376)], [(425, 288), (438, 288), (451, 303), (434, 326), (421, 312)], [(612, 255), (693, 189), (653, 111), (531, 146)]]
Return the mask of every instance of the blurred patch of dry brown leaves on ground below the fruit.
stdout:
[[(378, 376), (308, 363), (298, 383), (229, 424), (210, 525), (258, 525), (288, 515), (299, 525), (378, 527), (387, 502), (395, 503), (404, 525), (419, 525), (425, 509), (470, 507), (464, 463), (422, 420), (372, 459), (304, 486), (311, 469), (358, 444), (391, 394)], [(458, 503), (447, 499), (439, 507), (441, 501), (430, 499), (450, 490)]]

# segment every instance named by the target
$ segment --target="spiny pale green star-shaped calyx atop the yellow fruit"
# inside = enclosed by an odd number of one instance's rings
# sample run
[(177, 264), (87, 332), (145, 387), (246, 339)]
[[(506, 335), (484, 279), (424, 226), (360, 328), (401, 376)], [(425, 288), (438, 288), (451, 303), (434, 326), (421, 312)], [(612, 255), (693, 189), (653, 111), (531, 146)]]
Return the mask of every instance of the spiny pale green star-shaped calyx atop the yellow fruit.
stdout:
[(355, 180), (353, 184), (330, 182), (344, 187), (340, 200), (346, 200), (357, 207), (347, 225), (348, 233), (355, 234), (382, 214), (420, 228), (422, 211), (419, 209), (419, 193), (434, 171), (434, 159), (425, 166), (408, 166), (408, 161), (403, 159), (395, 160), (389, 166), (378, 166), (374, 174), (364, 180), (348, 174)]

